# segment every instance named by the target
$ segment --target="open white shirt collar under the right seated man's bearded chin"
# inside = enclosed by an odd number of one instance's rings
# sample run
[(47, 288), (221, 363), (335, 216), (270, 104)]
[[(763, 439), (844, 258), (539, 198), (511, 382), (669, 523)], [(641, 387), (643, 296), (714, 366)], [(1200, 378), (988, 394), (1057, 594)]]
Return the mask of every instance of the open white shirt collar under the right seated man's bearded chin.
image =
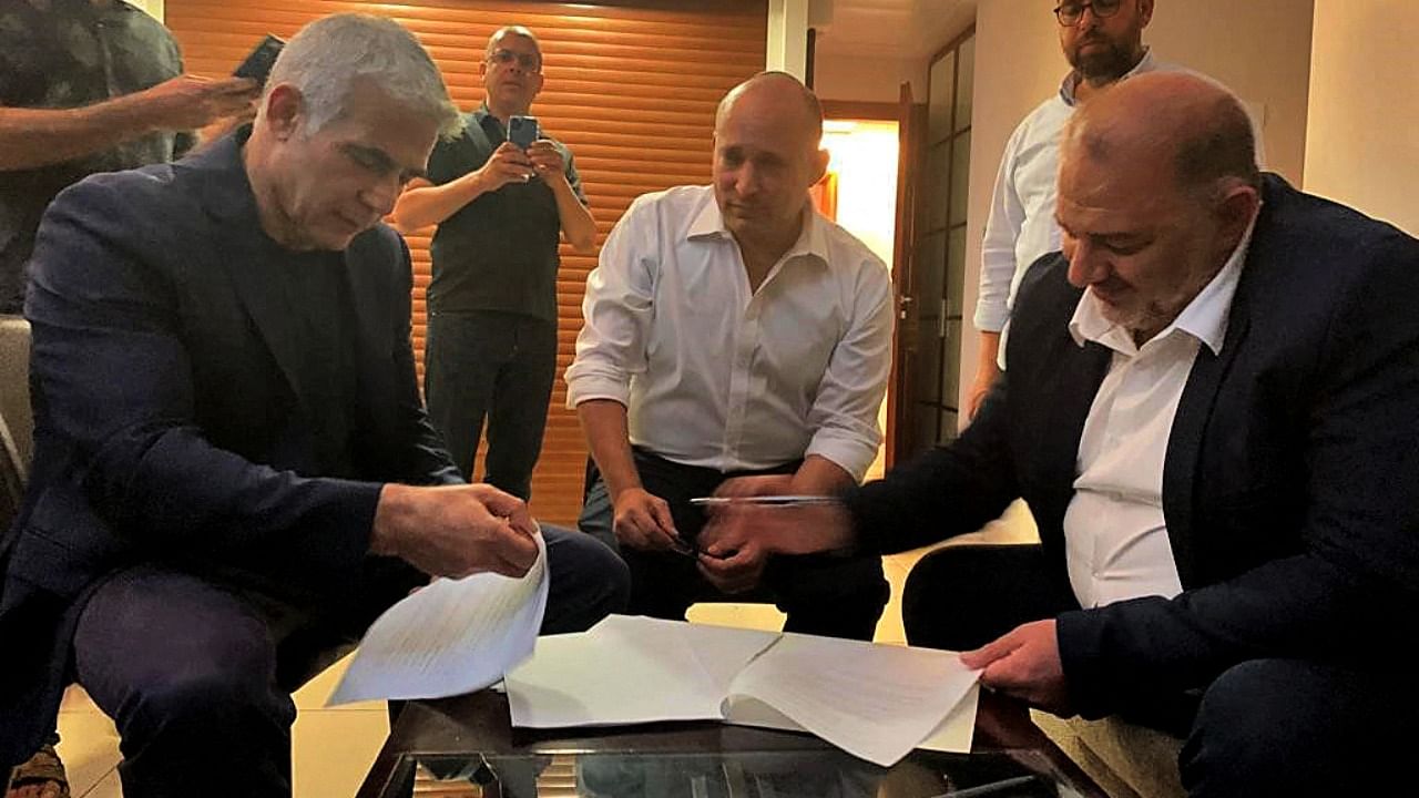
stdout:
[[(1222, 354), (1232, 298), (1236, 295), (1237, 281), (1242, 278), (1242, 264), (1246, 263), (1253, 230), (1256, 230), (1254, 216), (1222, 270), (1188, 302), (1188, 307), (1182, 308), (1172, 324), (1152, 338), (1154, 341), (1161, 341), (1175, 331), (1181, 331), (1205, 344), (1213, 355)], [(1132, 335), (1104, 317), (1104, 310), (1093, 291), (1086, 290), (1084, 295), (1080, 297), (1078, 305), (1074, 307), (1074, 317), (1069, 322), (1069, 332), (1080, 346), (1087, 341), (1094, 341), (1115, 351), (1137, 351), (1137, 346), (1132, 345)], [(1122, 349), (1120, 349), (1121, 346)]]

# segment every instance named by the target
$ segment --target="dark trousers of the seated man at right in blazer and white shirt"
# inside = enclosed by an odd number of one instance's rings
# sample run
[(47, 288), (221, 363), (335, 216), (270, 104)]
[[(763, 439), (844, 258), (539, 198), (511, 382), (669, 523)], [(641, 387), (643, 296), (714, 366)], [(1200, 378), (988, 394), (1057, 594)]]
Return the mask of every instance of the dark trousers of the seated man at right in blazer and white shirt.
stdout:
[[(1040, 547), (962, 545), (912, 568), (902, 623), (911, 645), (968, 650), (1077, 608)], [(1191, 795), (1392, 795), (1382, 785), (1401, 784), (1405, 751), (1419, 740), (1409, 680), (1259, 659), (1225, 670), (1200, 696), (1156, 696), (1120, 716), (1186, 740), (1179, 768)]]

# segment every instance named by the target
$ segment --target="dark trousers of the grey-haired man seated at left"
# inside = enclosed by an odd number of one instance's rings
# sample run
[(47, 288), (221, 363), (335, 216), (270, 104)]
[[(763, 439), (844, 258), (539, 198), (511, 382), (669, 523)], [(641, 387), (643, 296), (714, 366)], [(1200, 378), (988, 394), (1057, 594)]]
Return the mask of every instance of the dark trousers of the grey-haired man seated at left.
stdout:
[[(604, 545), (543, 527), (551, 588), (542, 632), (573, 632), (620, 612), (626, 567)], [(291, 692), (349, 649), (389, 606), (427, 581), (390, 559), (339, 611), (145, 565), (99, 586), (79, 615), (79, 684), (118, 726), (128, 798), (289, 797)]]

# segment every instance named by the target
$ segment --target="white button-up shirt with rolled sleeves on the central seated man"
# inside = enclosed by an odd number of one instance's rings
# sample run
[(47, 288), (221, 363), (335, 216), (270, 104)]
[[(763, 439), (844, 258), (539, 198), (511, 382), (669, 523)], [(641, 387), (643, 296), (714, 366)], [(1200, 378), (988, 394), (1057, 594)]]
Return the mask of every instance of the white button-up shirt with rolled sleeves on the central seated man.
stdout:
[(805, 203), (751, 293), (711, 186), (641, 196), (586, 280), (569, 408), (613, 399), (630, 442), (721, 471), (819, 454), (861, 480), (891, 368), (887, 267)]

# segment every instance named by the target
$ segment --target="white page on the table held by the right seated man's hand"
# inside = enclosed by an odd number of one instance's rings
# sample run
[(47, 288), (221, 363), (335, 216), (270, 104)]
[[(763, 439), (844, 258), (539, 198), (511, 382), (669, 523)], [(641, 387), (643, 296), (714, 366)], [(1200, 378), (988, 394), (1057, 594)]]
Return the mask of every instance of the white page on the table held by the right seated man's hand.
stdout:
[(942, 724), (978, 677), (952, 652), (783, 635), (735, 677), (724, 714), (778, 726), (766, 704), (856, 757), (891, 765)]

